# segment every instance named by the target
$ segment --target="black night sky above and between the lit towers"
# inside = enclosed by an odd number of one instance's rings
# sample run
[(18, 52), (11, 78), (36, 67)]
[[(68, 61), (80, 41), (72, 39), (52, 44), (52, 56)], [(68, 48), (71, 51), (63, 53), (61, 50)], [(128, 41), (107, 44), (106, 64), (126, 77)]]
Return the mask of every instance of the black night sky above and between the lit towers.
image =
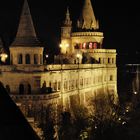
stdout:
[[(100, 30), (104, 32), (104, 47), (115, 48), (118, 52), (140, 50), (139, 7), (134, 1), (91, 0)], [(39, 39), (47, 48), (59, 44), (60, 25), (69, 6), (75, 23), (81, 13), (84, 0), (28, 0)], [(133, 2), (133, 3), (132, 3)], [(1, 0), (0, 33), (6, 45), (14, 39), (23, 0)], [(8, 42), (8, 43), (7, 43)]]

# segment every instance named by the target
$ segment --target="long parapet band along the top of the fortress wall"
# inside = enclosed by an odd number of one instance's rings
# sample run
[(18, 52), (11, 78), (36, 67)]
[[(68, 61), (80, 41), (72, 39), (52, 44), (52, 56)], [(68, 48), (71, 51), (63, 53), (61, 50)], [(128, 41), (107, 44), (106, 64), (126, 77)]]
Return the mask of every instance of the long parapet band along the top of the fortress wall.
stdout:
[(58, 70), (70, 70), (70, 69), (95, 69), (95, 68), (107, 68), (115, 67), (115, 64), (51, 64), (51, 65), (30, 65), (30, 66), (14, 66), (7, 65), (1, 66), (0, 72), (44, 72), (44, 71), (58, 71)]

